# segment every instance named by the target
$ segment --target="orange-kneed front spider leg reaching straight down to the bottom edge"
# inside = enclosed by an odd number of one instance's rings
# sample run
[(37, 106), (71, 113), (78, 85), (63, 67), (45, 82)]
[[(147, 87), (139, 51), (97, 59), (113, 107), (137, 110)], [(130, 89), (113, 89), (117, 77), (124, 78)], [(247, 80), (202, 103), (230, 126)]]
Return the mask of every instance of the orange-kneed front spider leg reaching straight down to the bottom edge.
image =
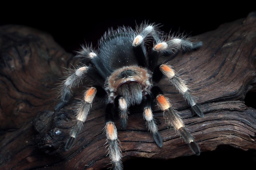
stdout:
[(108, 156), (113, 163), (115, 170), (122, 170), (122, 152), (120, 149), (120, 141), (117, 137), (117, 128), (114, 123), (115, 104), (109, 103), (106, 106), (106, 125), (104, 131), (106, 132), (108, 144)]

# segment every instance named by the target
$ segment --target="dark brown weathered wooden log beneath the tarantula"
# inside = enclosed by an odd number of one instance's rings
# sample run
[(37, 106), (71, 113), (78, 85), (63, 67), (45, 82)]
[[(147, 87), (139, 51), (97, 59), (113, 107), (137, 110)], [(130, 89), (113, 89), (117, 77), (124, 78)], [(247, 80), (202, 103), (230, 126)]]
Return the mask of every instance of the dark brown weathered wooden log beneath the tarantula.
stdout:
[[(255, 150), (256, 109), (246, 106), (244, 99), (248, 91), (256, 90), (256, 13), (192, 38), (204, 45), (172, 57), (171, 64), (189, 82), (205, 116), (192, 115), (188, 104), (166, 80), (159, 86), (180, 111), (201, 152), (222, 144)], [(97, 100), (74, 147), (63, 150), (72, 125), (72, 109), (82, 94), (80, 88), (68, 106), (54, 112), (58, 83), (66, 71), (63, 67), (77, 63), (72, 54), (47, 33), (17, 25), (0, 27), (0, 49), (0, 169), (110, 167), (102, 130), (104, 104)], [(154, 110), (163, 147), (155, 144), (142, 114), (131, 114), (127, 130), (118, 131), (124, 161), (130, 157), (172, 159), (192, 155), (189, 146), (165, 124), (159, 109)]]

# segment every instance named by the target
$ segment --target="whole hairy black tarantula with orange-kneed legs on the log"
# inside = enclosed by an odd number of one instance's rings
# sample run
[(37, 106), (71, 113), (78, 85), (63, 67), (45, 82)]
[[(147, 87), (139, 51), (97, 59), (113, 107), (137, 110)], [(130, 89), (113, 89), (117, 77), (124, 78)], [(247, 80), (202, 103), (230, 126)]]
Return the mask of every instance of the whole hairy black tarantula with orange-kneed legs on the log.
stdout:
[(105, 132), (108, 143), (108, 155), (115, 170), (122, 169), (121, 149), (117, 137), (117, 128), (114, 123), (114, 114), (118, 110), (121, 128), (126, 129), (130, 106), (140, 105), (143, 108), (143, 117), (146, 120), (148, 130), (159, 147), (163, 140), (158, 132), (153, 118), (152, 106), (156, 102), (163, 111), (168, 124), (173, 126), (184, 141), (189, 144), (195, 155), (200, 154), (200, 148), (193, 136), (186, 130), (181, 117), (172, 107), (169, 99), (156, 85), (165, 76), (184, 96), (192, 110), (199, 116), (204, 114), (197, 106), (188, 86), (175, 75), (172, 66), (158, 64), (158, 57), (171, 55), (177, 51), (193, 50), (202, 46), (202, 42), (190, 42), (188, 39), (177, 38), (172, 35), (164, 35), (156, 24), (143, 23), (135, 30), (130, 27), (110, 29), (101, 38), (99, 49), (92, 46), (82, 46), (77, 57), (82, 58), (83, 64), (72, 70), (61, 84), (61, 102), (56, 110), (61, 109), (72, 96), (71, 88), (79, 85), (85, 76), (93, 80), (93, 86), (89, 87), (83, 97), (83, 101), (77, 106), (76, 124), (70, 130), (70, 138), (67, 140), (65, 150), (69, 150), (81, 132), (94, 97), (106, 98), (106, 125)]

